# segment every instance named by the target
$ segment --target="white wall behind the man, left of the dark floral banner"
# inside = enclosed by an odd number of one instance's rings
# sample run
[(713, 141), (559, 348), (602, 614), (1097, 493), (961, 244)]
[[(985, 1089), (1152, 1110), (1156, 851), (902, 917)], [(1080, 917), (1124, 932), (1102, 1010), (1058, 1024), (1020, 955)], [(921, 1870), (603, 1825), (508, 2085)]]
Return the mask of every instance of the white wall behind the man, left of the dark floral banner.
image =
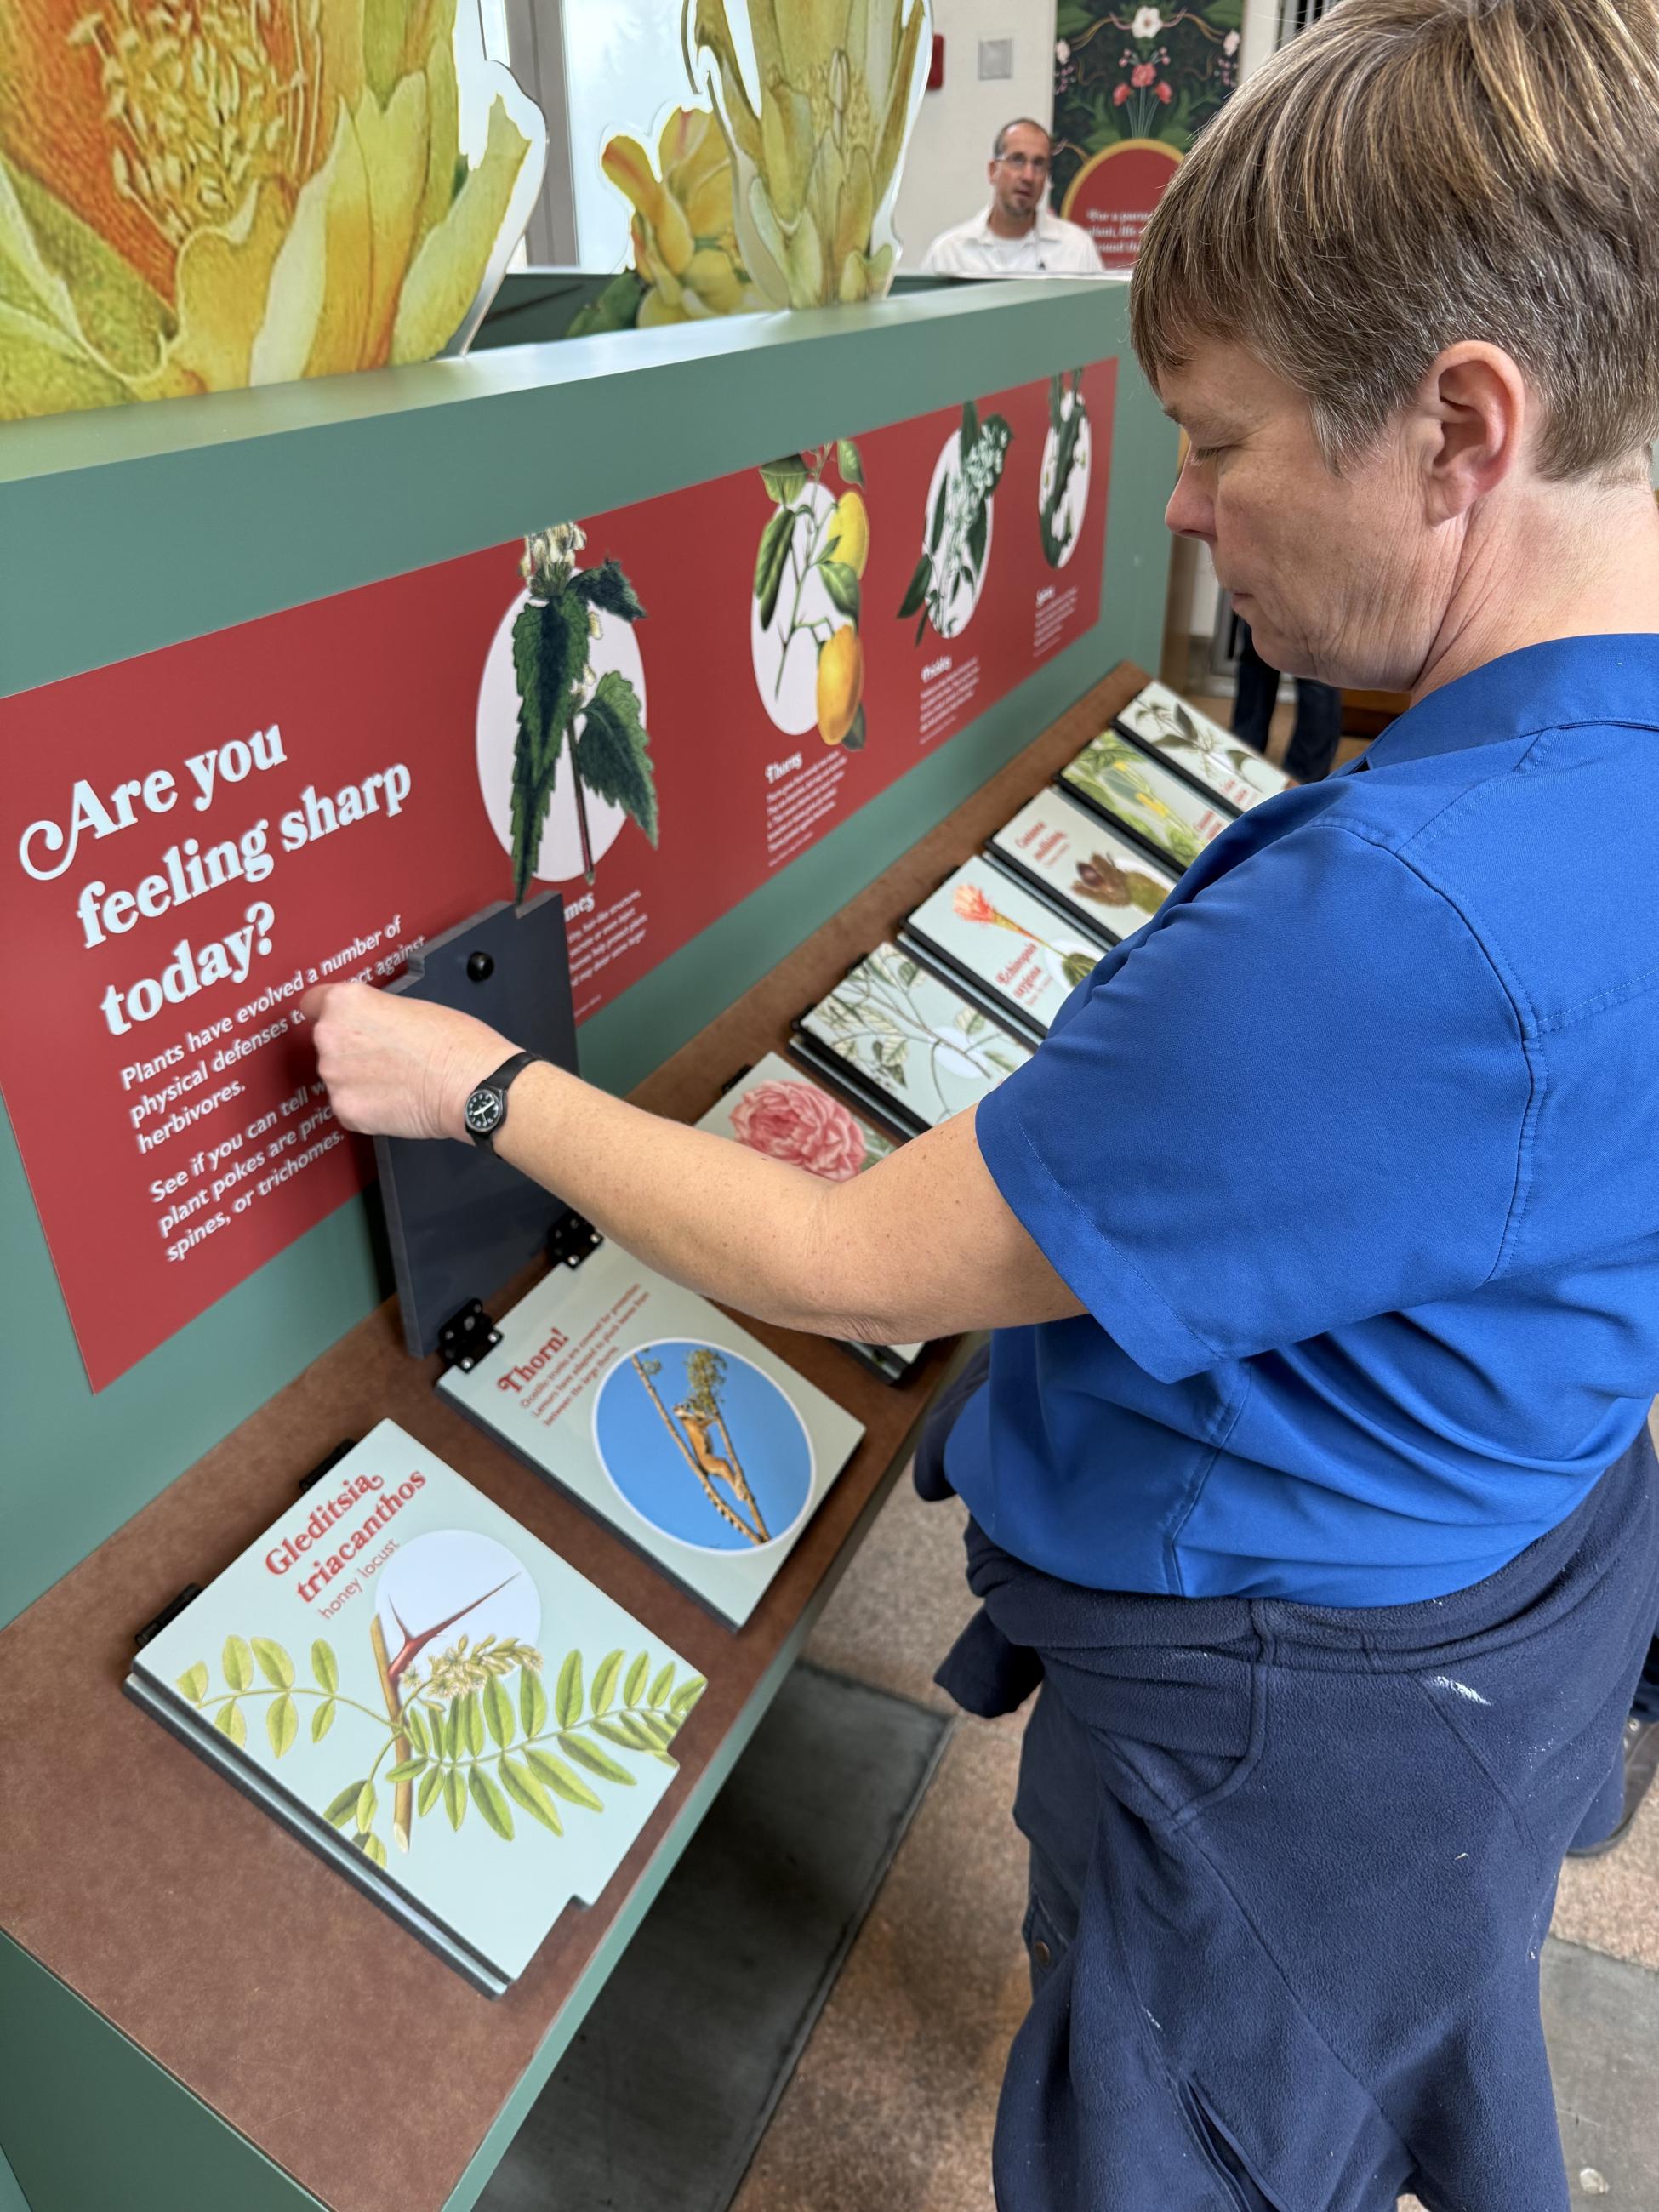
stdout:
[[(1055, 0), (933, 0), (945, 35), (945, 86), (922, 95), (905, 157), (894, 228), (900, 268), (920, 268), (940, 230), (984, 208), (991, 144), (1015, 115), (1048, 124), (1055, 106)], [(1013, 40), (1013, 77), (980, 82), (980, 40)]]

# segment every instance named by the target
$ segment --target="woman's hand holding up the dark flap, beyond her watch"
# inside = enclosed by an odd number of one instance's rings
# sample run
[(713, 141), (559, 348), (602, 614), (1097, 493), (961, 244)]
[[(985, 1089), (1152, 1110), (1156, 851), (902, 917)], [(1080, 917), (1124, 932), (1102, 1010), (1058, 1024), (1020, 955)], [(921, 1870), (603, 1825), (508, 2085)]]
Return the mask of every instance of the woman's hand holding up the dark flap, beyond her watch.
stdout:
[(465, 1137), (469, 1093), (513, 1044), (449, 1006), (387, 998), (365, 982), (323, 982), (299, 1002), (314, 1026), (316, 1071), (334, 1119), (372, 1137)]

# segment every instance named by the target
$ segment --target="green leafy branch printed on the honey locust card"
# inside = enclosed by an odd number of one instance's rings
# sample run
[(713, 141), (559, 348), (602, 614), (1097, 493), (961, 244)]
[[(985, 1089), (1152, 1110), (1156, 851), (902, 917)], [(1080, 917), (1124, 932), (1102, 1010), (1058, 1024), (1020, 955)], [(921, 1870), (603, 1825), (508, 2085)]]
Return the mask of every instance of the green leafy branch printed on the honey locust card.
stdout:
[[(482, 1599), (473, 1601), (478, 1604)], [(473, 1606), (465, 1610), (471, 1613)], [(422, 1637), (425, 1641), (429, 1639)], [(597, 1783), (637, 1783), (637, 1774), (615, 1752), (672, 1765), (668, 1745), (706, 1688), (701, 1674), (679, 1681), (675, 1661), (653, 1666), (648, 1650), (633, 1659), (624, 1650), (606, 1652), (584, 1688), (582, 1652), (573, 1650), (560, 1666), (549, 1699), (542, 1655), (533, 1646), (515, 1637), (482, 1637), (471, 1644), (462, 1635), (427, 1663), (425, 1677), (414, 1663), (405, 1663), (405, 1703), (389, 1719), (341, 1692), (338, 1659), (321, 1637), (312, 1644), (314, 1688), (296, 1679), (292, 1655), (270, 1637), (226, 1637), (219, 1663), (223, 1692), (210, 1694), (212, 1677), (201, 1659), (177, 1677), (177, 1688), (239, 1747), (248, 1743), (243, 1708), (257, 1699), (265, 1701), (265, 1736), (274, 1759), (283, 1759), (299, 1741), (299, 1699), (314, 1701), (312, 1743), (330, 1734), (338, 1712), (380, 1730), (383, 1741), (367, 1770), (323, 1809), (330, 1827), (352, 1829), (352, 1843), (376, 1867), (387, 1865), (385, 1843), (376, 1834), (383, 1787), (389, 1785), (396, 1794), (407, 1783), (416, 1790), (416, 1818), (442, 1805), (456, 1832), (471, 1805), (502, 1843), (511, 1843), (518, 1805), (540, 1827), (562, 1836), (560, 1805), (602, 1814)], [(513, 1677), (518, 1697), (509, 1694)], [(407, 1756), (394, 1756), (398, 1741), (409, 1745)]]

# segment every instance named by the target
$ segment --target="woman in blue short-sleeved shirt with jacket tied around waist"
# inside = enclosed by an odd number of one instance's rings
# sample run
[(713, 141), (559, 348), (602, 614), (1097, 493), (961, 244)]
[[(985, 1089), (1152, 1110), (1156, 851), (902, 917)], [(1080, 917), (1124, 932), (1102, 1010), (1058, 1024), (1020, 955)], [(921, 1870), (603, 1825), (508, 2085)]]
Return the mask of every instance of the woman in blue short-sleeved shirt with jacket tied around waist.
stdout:
[[(546, 1066), (495, 1137), (745, 1312), (993, 1332), (918, 1480), (945, 1679), (1044, 1683), (1009, 2212), (1568, 2201), (1537, 1949), (1659, 1590), (1657, 139), (1650, 0), (1343, 0), (1254, 75), (1135, 276), (1170, 526), (1411, 710), (854, 1183)], [(307, 1011), (352, 1128), (458, 1137), (511, 1053)]]

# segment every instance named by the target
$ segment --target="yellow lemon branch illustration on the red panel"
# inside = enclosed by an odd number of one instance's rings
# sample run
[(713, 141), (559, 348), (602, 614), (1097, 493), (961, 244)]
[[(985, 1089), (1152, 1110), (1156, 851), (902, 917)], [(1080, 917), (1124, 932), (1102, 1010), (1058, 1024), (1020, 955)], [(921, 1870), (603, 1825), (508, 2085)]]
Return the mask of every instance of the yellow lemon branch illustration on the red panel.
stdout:
[[(845, 489), (834, 507), (823, 509), (816, 493), (825, 489), (823, 473), (832, 458)], [(776, 507), (761, 531), (761, 546), (754, 555), (754, 597), (761, 608), (761, 628), (772, 633), (779, 648), (774, 697), (783, 697), (790, 646), (803, 633), (810, 635), (818, 653), (818, 737), (825, 745), (858, 752), (865, 743), (865, 648), (858, 641), (860, 577), (869, 560), (865, 465), (852, 438), (838, 438), (810, 453), (785, 453), (783, 460), (770, 460), (761, 469), (761, 482)], [(841, 622), (832, 615), (803, 613), (807, 582), (814, 575), (823, 584), (834, 615), (843, 617)], [(785, 591), (790, 591), (787, 615), (772, 630)]]

